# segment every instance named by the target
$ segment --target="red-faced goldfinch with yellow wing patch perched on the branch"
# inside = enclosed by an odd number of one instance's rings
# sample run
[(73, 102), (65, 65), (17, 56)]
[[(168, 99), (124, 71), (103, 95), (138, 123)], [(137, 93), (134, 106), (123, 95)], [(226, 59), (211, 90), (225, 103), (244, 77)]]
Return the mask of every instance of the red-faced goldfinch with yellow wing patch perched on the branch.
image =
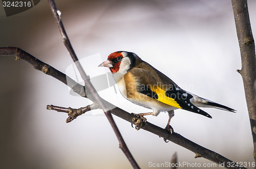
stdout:
[(112, 72), (118, 89), (127, 100), (153, 111), (136, 114), (138, 116), (158, 116), (167, 111), (169, 119), (165, 129), (173, 132), (170, 119), (174, 110), (181, 108), (211, 118), (207, 112), (198, 107), (212, 107), (235, 112), (236, 110), (216, 102), (204, 99), (182, 90), (176, 83), (163, 73), (142, 61), (137, 54), (127, 51), (111, 53), (108, 60), (100, 64)]

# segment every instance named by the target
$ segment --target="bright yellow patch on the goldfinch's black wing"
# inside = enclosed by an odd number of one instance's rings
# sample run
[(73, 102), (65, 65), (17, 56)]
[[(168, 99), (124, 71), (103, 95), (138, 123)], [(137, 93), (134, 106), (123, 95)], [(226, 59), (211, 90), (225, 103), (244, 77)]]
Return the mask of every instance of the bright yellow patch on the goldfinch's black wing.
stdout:
[(154, 89), (154, 88), (151, 87), (150, 89), (157, 94), (158, 99), (156, 99), (156, 100), (161, 101), (161, 102), (163, 102), (165, 104), (168, 104), (170, 106), (173, 106), (173, 107), (182, 108), (177, 103), (177, 101), (175, 101), (173, 98), (167, 97), (165, 95), (165, 91), (162, 90), (161, 88), (157, 87), (157, 89), (156, 89), (156, 87), (155, 87), (155, 89)]

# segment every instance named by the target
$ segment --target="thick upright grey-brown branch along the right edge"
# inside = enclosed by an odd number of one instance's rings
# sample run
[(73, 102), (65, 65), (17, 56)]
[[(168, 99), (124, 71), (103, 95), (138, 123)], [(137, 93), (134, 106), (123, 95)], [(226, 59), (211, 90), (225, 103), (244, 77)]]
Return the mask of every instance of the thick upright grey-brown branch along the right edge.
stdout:
[(254, 83), (256, 80), (255, 44), (251, 32), (247, 1), (232, 0), (232, 6), (242, 61), (242, 69), (238, 70), (238, 72), (243, 78), (245, 98), (253, 138), (253, 157), (256, 161), (256, 99), (254, 90)]

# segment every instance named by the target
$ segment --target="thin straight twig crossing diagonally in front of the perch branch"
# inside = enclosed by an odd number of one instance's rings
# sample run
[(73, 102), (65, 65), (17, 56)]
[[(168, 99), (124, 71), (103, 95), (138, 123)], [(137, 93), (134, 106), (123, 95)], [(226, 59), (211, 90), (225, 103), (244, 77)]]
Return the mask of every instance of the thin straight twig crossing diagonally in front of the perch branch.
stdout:
[(75, 51), (70, 43), (70, 40), (68, 38), (68, 35), (65, 31), (65, 28), (62, 24), (62, 21), (61, 21), (61, 13), (60, 11), (57, 9), (57, 6), (56, 6), (56, 3), (54, 0), (48, 0), (48, 3), (50, 5), (50, 8), (52, 10), (52, 13), (53, 13), (53, 16), (54, 16), (54, 19), (56, 21), (56, 24), (58, 26), (58, 29), (60, 31), (60, 34), (63, 38), (63, 43), (65, 44), (65, 46), (67, 47), (70, 55), (71, 55), (71, 58), (73, 59), (82, 79), (84, 80), (85, 84), (86, 84), (86, 87), (87, 89), (90, 91), (90, 93), (92, 94), (92, 98), (89, 98), (90, 100), (92, 100), (94, 103), (97, 103), (100, 108), (104, 111), (104, 114), (106, 115), (106, 117), (108, 118), (116, 136), (117, 136), (117, 139), (119, 141), (119, 147), (121, 148), (121, 150), (123, 151), (123, 153), (126, 155), (127, 159), (130, 161), (130, 163), (132, 164), (132, 166), (134, 168), (139, 168), (139, 165), (137, 164), (137, 162), (135, 161), (135, 159), (133, 158), (130, 150), (128, 149), (128, 147), (126, 146), (125, 142), (124, 142), (124, 139), (111, 115), (111, 112), (107, 109), (107, 107), (105, 106), (105, 104), (103, 103), (102, 99), (100, 98), (100, 96), (98, 95), (98, 93), (96, 92), (95, 88), (93, 87), (91, 81), (89, 80), (86, 72), (84, 72), (80, 62), (78, 61), (78, 58), (76, 57), (76, 54), (75, 54)]

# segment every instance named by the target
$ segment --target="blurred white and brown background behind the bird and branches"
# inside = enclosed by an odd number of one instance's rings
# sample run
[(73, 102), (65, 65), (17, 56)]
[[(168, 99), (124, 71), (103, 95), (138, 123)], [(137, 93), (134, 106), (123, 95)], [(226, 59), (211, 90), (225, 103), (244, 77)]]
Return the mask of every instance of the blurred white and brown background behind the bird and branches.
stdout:
[[(114, 51), (133, 51), (181, 88), (237, 110), (207, 109), (212, 119), (176, 110), (175, 132), (230, 160), (253, 162), (253, 144), (241, 75), (241, 58), (231, 1), (56, 1), (78, 58), (89, 75)], [(252, 32), (256, 2), (249, 0)], [(0, 46), (16, 46), (66, 72), (72, 59), (62, 43), (47, 1), (6, 17), (0, 7)], [(99, 59), (100, 58), (100, 59)], [(47, 104), (79, 108), (90, 103), (67, 86), (15, 57), (0, 57), (0, 168), (132, 168), (101, 110), (67, 124), (67, 114)], [(111, 87), (106, 98), (129, 112), (148, 112)], [(112, 93), (111, 93), (112, 92)], [(104, 91), (101, 91), (104, 95)], [(147, 116), (165, 127), (168, 115)], [(114, 117), (141, 168), (169, 162), (212, 163), (172, 142)], [(184, 166), (186, 168), (186, 166)], [(219, 164), (217, 167), (219, 168)], [(248, 167), (252, 168), (252, 167)]]

